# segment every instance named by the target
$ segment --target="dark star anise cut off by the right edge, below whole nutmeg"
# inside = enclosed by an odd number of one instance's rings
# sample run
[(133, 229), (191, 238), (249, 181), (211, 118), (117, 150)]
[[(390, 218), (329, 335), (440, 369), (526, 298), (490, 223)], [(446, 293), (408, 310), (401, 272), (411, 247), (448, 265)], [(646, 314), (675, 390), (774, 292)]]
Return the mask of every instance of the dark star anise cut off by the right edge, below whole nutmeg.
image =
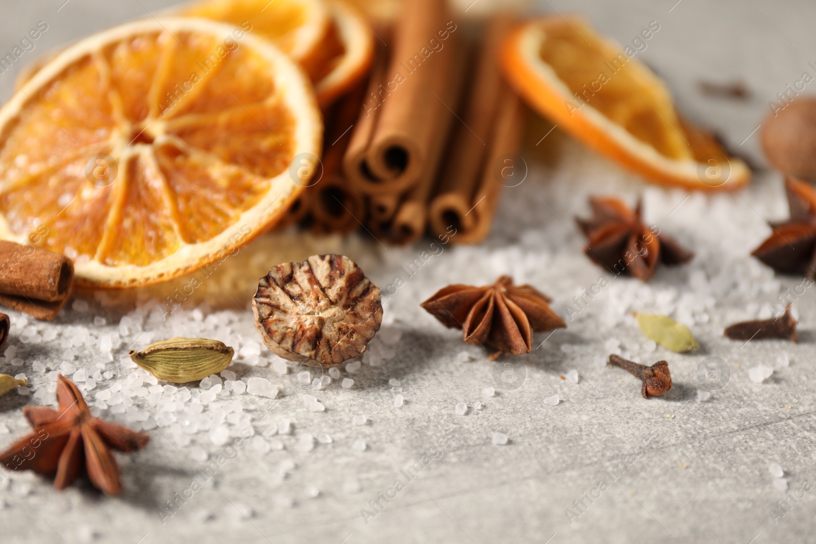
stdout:
[(816, 190), (795, 178), (785, 180), (791, 219), (769, 223), (774, 232), (752, 255), (777, 272), (816, 279)]

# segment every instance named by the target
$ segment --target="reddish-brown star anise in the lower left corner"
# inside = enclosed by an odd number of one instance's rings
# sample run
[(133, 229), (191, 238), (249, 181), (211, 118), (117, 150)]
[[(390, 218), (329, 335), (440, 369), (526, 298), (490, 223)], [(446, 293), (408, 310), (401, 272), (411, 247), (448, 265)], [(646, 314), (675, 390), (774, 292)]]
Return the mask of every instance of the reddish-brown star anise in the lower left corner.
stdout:
[(34, 432), (0, 453), (2, 467), (56, 472), (54, 487), (64, 489), (76, 479), (84, 462), (91, 484), (106, 495), (122, 491), (119, 467), (110, 449), (132, 452), (144, 447), (149, 436), (91, 416), (82, 394), (71, 381), (59, 376), (58, 410), (26, 406), (25, 418)]

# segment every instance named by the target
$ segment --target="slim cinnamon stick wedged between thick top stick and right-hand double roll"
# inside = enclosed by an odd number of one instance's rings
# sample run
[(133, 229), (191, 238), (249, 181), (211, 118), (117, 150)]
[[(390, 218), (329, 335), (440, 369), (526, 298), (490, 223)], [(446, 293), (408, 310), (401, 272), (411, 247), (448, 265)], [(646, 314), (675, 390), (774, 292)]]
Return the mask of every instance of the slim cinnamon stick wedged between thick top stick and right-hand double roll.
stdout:
[(430, 89), (432, 97), (445, 111), (437, 114), (435, 131), (429, 140), (431, 147), (425, 154), (419, 180), (394, 215), (391, 238), (397, 244), (410, 244), (419, 240), (428, 226), (428, 201), (437, 181), (442, 153), (447, 148), (446, 142), (455, 120), (454, 112), (459, 105), (464, 76), (463, 53), (463, 44), (455, 35), (451, 35), (445, 49), (437, 54), (438, 64), (434, 67), (437, 73)]

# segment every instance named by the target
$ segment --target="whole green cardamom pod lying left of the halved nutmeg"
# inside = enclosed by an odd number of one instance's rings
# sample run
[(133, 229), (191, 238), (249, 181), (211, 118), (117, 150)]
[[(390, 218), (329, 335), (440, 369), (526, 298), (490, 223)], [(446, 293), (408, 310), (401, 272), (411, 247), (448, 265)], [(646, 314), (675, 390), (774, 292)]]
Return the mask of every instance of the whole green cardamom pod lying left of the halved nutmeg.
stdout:
[(197, 382), (218, 374), (233, 361), (235, 350), (218, 340), (171, 338), (141, 352), (127, 352), (133, 362), (156, 378), (172, 383)]

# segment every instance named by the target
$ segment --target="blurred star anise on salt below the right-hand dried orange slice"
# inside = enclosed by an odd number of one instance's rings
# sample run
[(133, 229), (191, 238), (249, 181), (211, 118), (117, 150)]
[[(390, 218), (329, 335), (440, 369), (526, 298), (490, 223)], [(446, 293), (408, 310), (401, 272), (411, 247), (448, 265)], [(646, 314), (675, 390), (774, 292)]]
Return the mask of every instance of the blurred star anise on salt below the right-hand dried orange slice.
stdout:
[(674, 238), (654, 232), (641, 221), (641, 202), (632, 210), (614, 197), (591, 197), (592, 218), (579, 219), (579, 227), (588, 237), (584, 253), (614, 274), (627, 272), (641, 281), (654, 274), (658, 261), (682, 264), (694, 257)]

